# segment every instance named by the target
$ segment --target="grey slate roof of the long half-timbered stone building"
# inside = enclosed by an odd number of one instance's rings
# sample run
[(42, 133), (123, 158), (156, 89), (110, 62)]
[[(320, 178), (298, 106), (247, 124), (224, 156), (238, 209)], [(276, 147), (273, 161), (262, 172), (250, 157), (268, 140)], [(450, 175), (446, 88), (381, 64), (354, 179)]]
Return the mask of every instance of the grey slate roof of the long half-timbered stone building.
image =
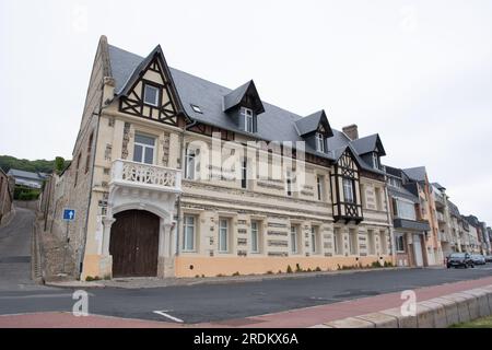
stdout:
[[(160, 49), (160, 46), (157, 46), (157, 48)], [(153, 55), (154, 51), (155, 49), (151, 52), (151, 55)], [(139, 70), (143, 68), (143, 62), (148, 60), (149, 57), (143, 58), (113, 45), (108, 45), (108, 52), (110, 71), (113, 78), (115, 79), (115, 94), (119, 95), (124, 92), (127, 82), (136, 77)], [(227, 98), (231, 98), (231, 101), (237, 100), (237, 96), (241, 95), (243, 90), (247, 88), (250, 82), (239, 86), (235, 90), (235, 93), (233, 93), (233, 90), (231, 89), (191, 75), (172, 67), (169, 67), (169, 72), (176, 85), (183, 108), (191, 119), (212, 126), (218, 126), (236, 133), (246, 133), (245, 131), (238, 130), (233, 119), (224, 113), (223, 103), (224, 96), (226, 95), (230, 95)], [(312, 121), (315, 120), (317, 118), (317, 114), (320, 113), (319, 112), (308, 116), (308, 119), (305, 121), (300, 121), (303, 117), (295, 113), (282, 109), (266, 103), (265, 101), (261, 101), (261, 103), (265, 112), (259, 114), (257, 117), (258, 132), (253, 135), (253, 137), (265, 141), (304, 141), (302, 136), (297, 132), (298, 125), (301, 125), (302, 129), (307, 130), (312, 128)], [(191, 104), (199, 106), (202, 113), (200, 114), (195, 112), (191, 108)], [(358, 149), (353, 144), (354, 142), (351, 141), (343, 132), (336, 129), (331, 130), (333, 136), (328, 138), (328, 153), (317, 152), (307, 143), (305, 143), (305, 151), (320, 158), (338, 160), (347, 147), (350, 147), (350, 149), (355, 153), (354, 155), (356, 161), (362, 168), (382, 175), (385, 174), (383, 171), (375, 170), (365, 163), (359, 156), (363, 153), (359, 153)], [(250, 133), (246, 135), (251, 136)], [(362, 140), (358, 142), (360, 150), (365, 150), (365, 144), (371, 144), (373, 142), (375, 144), (378, 137), (374, 137), (375, 136), (368, 137), (368, 139), (360, 139)]]

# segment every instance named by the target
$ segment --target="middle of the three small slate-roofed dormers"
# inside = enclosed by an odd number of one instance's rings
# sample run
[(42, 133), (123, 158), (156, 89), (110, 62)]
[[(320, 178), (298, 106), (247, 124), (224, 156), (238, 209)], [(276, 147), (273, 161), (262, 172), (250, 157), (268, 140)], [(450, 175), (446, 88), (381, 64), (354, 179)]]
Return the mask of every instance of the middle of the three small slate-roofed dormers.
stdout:
[(298, 136), (320, 153), (328, 153), (328, 138), (333, 136), (325, 110), (318, 110), (295, 121)]

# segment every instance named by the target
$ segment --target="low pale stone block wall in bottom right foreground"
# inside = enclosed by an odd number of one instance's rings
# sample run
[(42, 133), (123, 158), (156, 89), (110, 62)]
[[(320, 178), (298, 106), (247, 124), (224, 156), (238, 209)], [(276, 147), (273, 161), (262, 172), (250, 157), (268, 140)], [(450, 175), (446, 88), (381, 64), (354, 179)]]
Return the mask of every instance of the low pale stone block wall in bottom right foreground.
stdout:
[(447, 328), (492, 315), (492, 284), (417, 303), (414, 316), (400, 308), (331, 320), (311, 328)]

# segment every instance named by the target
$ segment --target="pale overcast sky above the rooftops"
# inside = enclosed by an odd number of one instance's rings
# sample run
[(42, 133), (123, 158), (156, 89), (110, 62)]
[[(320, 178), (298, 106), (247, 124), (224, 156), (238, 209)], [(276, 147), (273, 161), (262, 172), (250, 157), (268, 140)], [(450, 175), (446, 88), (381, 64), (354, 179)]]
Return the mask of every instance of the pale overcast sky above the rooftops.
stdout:
[(308, 115), (378, 132), (492, 223), (492, 1), (0, 0), (0, 154), (70, 159), (99, 35)]

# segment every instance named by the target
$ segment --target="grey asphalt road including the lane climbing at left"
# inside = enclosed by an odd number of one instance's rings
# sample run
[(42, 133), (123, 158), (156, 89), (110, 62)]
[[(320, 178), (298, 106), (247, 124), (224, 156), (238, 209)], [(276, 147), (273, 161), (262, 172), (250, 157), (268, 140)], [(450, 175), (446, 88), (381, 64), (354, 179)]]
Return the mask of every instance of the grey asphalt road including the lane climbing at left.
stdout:
[[(25, 241), (31, 230), (28, 212), (20, 210), (13, 228), (0, 230), (0, 261), (27, 256)], [(10, 232), (10, 234), (9, 234)], [(5, 237), (4, 237), (5, 236)], [(10, 237), (10, 238), (9, 238)], [(22, 241), (22, 242), (21, 242)], [(15, 250), (14, 247), (19, 247)], [(71, 311), (72, 291), (38, 287), (26, 282), (26, 262), (0, 264), (0, 314)], [(8, 271), (14, 269), (15, 271)], [(19, 269), (19, 270), (17, 270)], [(7, 275), (4, 272), (7, 271)], [(285, 310), (329, 304), (363, 296), (398, 292), (492, 276), (492, 265), (475, 269), (374, 270), (336, 276), (306, 277), (261, 282), (201, 284), (154, 289), (90, 289), (89, 312), (130, 318), (169, 322), (154, 311), (163, 311), (185, 323), (241, 318)], [(7, 277), (7, 279), (5, 279)], [(19, 278), (19, 280), (16, 280)], [(7, 281), (7, 282), (5, 282)], [(19, 288), (24, 285), (24, 288)], [(30, 289), (26, 289), (26, 285)]]

